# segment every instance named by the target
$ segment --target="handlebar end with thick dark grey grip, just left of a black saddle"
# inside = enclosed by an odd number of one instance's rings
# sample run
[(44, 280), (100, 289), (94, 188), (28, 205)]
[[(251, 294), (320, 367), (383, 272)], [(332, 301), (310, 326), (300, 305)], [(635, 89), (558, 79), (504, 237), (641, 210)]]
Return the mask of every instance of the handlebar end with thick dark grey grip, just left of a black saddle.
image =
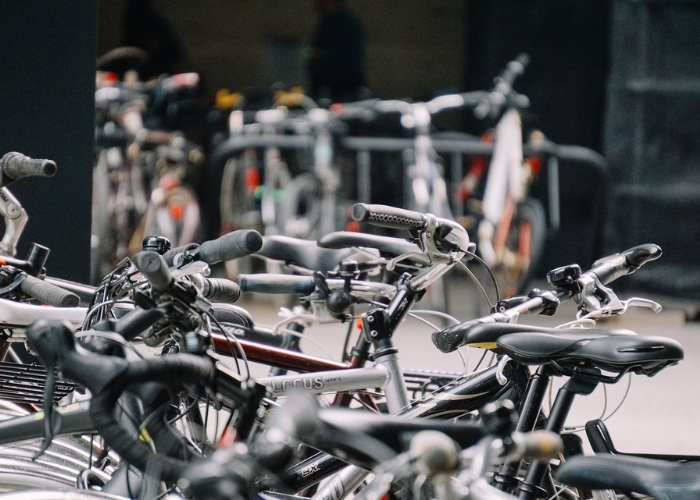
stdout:
[(172, 266), (178, 255), (191, 252), (196, 260), (207, 264), (233, 260), (257, 252), (262, 247), (262, 236), (253, 229), (232, 231), (215, 240), (205, 241), (201, 245), (185, 245), (173, 248), (163, 255), (165, 262)]

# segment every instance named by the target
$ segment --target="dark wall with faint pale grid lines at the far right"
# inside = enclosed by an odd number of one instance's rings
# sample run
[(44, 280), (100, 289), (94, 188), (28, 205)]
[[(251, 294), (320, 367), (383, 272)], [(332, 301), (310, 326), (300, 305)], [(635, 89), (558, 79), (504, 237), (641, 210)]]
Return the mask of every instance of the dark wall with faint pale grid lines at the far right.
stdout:
[(606, 242), (664, 256), (630, 281), (700, 298), (700, 3), (613, 2)]

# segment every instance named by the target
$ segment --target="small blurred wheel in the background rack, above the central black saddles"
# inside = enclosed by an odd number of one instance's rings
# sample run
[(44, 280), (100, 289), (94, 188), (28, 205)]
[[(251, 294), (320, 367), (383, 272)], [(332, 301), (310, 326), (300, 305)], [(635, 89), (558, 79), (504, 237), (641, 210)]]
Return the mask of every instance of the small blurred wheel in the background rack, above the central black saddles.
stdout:
[[(284, 190), (284, 200), (279, 214), (282, 234), (294, 238), (316, 239), (322, 236), (323, 187), (314, 174), (306, 173), (294, 177)], [(335, 224), (334, 224), (335, 226)]]

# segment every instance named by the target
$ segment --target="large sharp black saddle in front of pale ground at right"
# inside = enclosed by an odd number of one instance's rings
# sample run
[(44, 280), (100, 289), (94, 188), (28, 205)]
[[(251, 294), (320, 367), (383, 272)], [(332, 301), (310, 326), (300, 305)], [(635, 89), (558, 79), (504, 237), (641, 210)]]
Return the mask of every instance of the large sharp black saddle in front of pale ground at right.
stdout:
[(526, 365), (553, 361), (560, 365), (577, 365), (587, 361), (610, 372), (630, 370), (649, 376), (683, 359), (683, 348), (673, 339), (636, 335), (601, 337), (596, 330), (519, 332), (499, 338), (497, 346), (501, 352)]

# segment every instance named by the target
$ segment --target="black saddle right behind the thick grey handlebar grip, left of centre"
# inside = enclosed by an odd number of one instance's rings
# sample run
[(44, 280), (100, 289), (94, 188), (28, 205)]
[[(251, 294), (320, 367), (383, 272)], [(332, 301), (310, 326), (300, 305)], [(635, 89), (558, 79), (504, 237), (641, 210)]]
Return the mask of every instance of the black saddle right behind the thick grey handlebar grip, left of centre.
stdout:
[(257, 254), (325, 273), (335, 269), (343, 259), (353, 254), (353, 250), (321, 248), (316, 245), (316, 241), (275, 235), (263, 236), (263, 246)]

